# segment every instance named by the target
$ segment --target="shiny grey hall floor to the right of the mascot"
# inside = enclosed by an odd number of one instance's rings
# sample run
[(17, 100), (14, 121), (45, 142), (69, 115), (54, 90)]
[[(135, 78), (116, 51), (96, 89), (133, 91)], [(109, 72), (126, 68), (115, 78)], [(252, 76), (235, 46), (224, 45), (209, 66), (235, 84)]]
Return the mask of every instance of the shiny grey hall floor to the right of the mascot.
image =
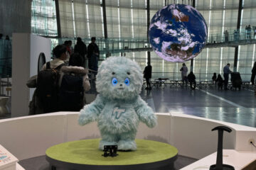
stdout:
[(252, 90), (191, 90), (167, 85), (142, 90), (141, 95), (156, 113), (183, 113), (256, 128), (256, 96)]

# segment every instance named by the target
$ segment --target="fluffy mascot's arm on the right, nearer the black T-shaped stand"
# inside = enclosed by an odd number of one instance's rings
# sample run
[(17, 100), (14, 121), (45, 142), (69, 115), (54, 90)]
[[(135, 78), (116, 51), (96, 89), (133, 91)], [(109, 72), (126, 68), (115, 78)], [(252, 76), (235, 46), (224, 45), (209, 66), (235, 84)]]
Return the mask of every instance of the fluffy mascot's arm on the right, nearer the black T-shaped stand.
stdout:
[(156, 126), (156, 115), (140, 96), (137, 98), (137, 101), (135, 101), (134, 109), (139, 116), (139, 120), (145, 123), (149, 128)]

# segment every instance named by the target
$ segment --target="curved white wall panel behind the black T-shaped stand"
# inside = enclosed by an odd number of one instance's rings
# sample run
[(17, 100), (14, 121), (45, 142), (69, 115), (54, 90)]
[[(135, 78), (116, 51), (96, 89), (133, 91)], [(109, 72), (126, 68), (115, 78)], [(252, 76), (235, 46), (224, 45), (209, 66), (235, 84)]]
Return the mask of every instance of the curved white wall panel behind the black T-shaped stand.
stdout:
[(171, 145), (177, 147), (181, 155), (201, 159), (217, 150), (218, 131), (211, 130), (220, 125), (233, 130), (223, 133), (223, 148), (235, 149), (236, 131), (233, 125), (181, 114), (171, 116)]

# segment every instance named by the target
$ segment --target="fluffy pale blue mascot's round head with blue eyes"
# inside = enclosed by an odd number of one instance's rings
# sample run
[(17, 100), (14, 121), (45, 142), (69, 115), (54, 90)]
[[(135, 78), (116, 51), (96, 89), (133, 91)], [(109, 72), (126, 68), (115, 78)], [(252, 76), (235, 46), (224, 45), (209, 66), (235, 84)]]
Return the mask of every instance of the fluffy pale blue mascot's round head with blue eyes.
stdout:
[(126, 57), (107, 58), (96, 77), (97, 92), (110, 99), (132, 99), (139, 95), (142, 84), (142, 70)]

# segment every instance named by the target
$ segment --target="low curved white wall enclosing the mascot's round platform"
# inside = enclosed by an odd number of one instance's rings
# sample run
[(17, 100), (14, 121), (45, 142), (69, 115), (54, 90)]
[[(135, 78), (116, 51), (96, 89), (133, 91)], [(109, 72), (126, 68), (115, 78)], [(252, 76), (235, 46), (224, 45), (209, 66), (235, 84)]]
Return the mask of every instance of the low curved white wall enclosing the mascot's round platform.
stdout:
[[(178, 148), (178, 154), (202, 159), (217, 150), (218, 132), (225, 125), (233, 131), (224, 132), (223, 149), (255, 154), (256, 128), (179, 113), (156, 113), (158, 125), (150, 129), (140, 124), (137, 138), (166, 142)], [(0, 120), (0, 145), (19, 160), (44, 155), (50, 146), (73, 140), (100, 137), (97, 123), (78, 125), (78, 113), (59, 112)], [(215, 162), (215, 161), (214, 161)]]

